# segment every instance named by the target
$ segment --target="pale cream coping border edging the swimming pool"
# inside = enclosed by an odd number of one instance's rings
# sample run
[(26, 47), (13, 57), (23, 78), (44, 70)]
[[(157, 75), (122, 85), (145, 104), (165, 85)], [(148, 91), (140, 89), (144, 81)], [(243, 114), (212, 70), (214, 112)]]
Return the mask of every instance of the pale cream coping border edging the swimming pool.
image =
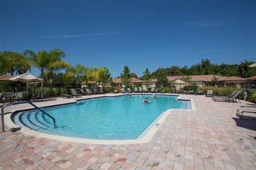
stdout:
[[(134, 93), (136, 94), (136, 93)], [(71, 105), (71, 104), (76, 104), (77, 102), (81, 100), (87, 100), (87, 99), (93, 99), (93, 98), (101, 98), (101, 97), (118, 97), (118, 96), (124, 96), (127, 94), (122, 94), (122, 95), (117, 95), (117, 96), (100, 96), (100, 97), (91, 97), (91, 98), (86, 98), (86, 99), (78, 99), (78, 100), (73, 100), (69, 101), (66, 103), (61, 103), (61, 104), (50, 104), (50, 105), (45, 105), (41, 108), (49, 108), (49, 107), (56, 107), (56, 106), (61, 106), (61, 105)], [(136, 94), (137, 95), (137, 94)], [(140, 94), (138, 94), (140, 95)], [(147, 93), (145, 95), (153, 95), (152, 93)], [(139, 143), (148, 143), (155, 135), (157, 132), (158, 128), (161, 126), (161, 124), (165, 121), (166, 117), (171, 114), (172, 111), (187, 111), (187, 112), (195, 112), (196, 111), (196, 106), (194, 103), (193, 99), (187, 99), (187, 98), (181, 98), (180, 95), (175, 95), (175, 94), (156, 94), (156, 95), (165, 95), (165, 96), (178, 96), (178, 100), (190, 100), (191, 104), (191, 110), (188, 109), (167, 109), (166, 111), (162, 112), (151, 124), (148, 125), (148, 127), (139, 135), (137, 139), (129, 139), (129, 140), (97, 140), (97, 139), (82, 139), (82, 138), (73, 138), (73, 137), (63, 137), (60, 135), (53, 135), (53, 134), (46, 134), (42, 132), (37, 132), (34, 130), (30, 129), (25, 129), (21, 128), (19, 132), (27, 134), (27, 135), (32, 135), (34, 137), (38, 138), (47, 138), (47, 139), (52, 139), (52, 140), (60, 140), (60, 141), (66, 141), (66, 142), (76, 142), (76, 143), (87, 143), (87, 144), (94, 144), (94, 145), (123, 145), (123, 144), (139, 144)], [(9, 127), (15, 127), (17, 124), (12, 122), (11, 120), (11, 115), (18, 113), (18, 112), (25, 112), (25, 111), (30, 111), (31, 107), (29, 108), (22, 108), (22, 109), (13, 109), (10, 111), (10, 114), (5, 114), (5, 125)]]

